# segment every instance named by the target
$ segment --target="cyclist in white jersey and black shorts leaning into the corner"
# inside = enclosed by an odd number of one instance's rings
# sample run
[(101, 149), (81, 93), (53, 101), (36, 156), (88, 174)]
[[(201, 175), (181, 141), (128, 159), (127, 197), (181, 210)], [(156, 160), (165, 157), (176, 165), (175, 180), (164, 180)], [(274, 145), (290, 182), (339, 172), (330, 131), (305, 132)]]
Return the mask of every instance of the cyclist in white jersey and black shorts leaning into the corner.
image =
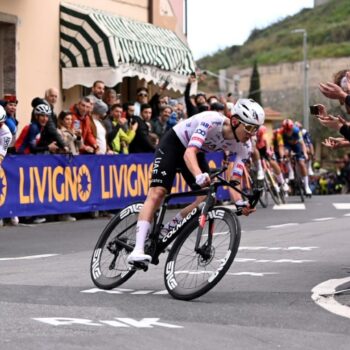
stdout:
[[(145, 240), (154, 213), (171, 191), (176, 171), (180, 169), (191, 188), (206, 187), (210, 184), (210, 177), (204, 152), (225, 151), (235, 157), (233, 179), (240, 179), (243, 164), (251, 154), (250, 138), (264, 120), (264, 110), (258, 103), (250, 99), (240, 99), (231, 118), (215, 111), (202, 112), (181, 121), (163, 136), (155, 153), (150, 189), (136, 224), (136, 244), (128, 256), (130, 264), (151, 261), (151, 257), (144, 253)], [(181, 222), (203, 200), (204, 197), (198, 197), (166, 224), (164, 229), (169, 230)], [(237, 207), (242, 208), (244, 215), (255, 211), (237, 192), (234, 201)]]

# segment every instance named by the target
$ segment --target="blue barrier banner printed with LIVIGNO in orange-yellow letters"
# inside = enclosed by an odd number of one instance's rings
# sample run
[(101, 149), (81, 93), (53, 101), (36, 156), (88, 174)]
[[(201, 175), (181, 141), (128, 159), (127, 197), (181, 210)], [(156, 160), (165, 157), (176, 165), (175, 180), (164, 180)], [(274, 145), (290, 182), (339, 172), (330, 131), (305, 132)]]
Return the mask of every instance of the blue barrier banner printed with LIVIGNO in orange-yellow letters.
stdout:
[[(221, 166), (221, 154), (207, 159), (210, 167)], [(112, 210), (144, 201), (152, 161), (153, 154), (8, 155), (0, 168), (0, 218)], [(172, 191), (186, 190), (177, 175)], [(218, 199), (227, 198), (221, 189)]]

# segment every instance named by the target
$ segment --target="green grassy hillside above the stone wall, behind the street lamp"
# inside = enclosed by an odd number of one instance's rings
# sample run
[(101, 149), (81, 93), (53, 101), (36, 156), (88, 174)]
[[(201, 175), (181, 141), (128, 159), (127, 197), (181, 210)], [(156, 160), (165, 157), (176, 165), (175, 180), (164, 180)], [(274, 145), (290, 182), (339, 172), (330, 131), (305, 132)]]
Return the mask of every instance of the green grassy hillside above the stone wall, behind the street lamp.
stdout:
[(349, 18), (349, 0), (333, 0), (314, 9), (304, 9), (267, 28), (255, 29), (242, 46), (205, 56), (197, 65), (218, 72), (233, 65), (252, 66), (255, 60), (259, 65), (301, 61), (302, 34), (291, 33), (298, 28), (307, 30), (308, 59), (350, 56)]

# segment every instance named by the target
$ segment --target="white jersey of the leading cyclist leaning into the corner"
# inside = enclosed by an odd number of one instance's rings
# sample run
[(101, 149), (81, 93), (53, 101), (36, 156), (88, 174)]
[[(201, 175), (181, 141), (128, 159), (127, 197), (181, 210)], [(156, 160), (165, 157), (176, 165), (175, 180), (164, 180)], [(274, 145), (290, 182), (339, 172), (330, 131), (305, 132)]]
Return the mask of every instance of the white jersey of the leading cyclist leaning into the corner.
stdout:
[(202, 112), (185, 119), (174, 126), (174, 131), (184, 147), (196, 147), (204, 152), (225, 151), (232, 155), (233, 174), (241, 176), (243, 164), (252, 153), (250, 141), (238, 142), (226, 140), (223, 136), (223, 125), (226, 117), (214, 111)]

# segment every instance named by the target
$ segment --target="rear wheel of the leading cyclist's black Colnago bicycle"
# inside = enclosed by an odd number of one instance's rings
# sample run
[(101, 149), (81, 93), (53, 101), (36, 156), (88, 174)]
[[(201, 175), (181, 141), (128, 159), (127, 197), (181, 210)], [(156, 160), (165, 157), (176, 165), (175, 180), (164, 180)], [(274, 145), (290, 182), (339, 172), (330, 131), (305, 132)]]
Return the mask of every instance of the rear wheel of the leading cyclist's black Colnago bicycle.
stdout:
[(136, 272), (126, 259), (135, 246), (136, 222), (142, 206), (143, 203), (135, 203), (121, 210), (100, 235), (90, 263), (90, 276), (98, 288), (113, 289)]

